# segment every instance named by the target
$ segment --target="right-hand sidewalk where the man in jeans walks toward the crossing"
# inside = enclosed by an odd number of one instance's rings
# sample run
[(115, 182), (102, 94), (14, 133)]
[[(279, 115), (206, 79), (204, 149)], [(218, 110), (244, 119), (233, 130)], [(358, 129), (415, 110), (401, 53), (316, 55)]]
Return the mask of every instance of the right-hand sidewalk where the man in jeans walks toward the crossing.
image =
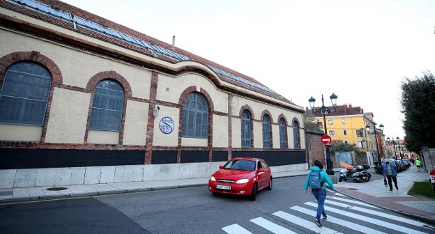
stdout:
[(435, 201), (425, 197), (409, 196), (408, 191), (416, 181), (429, 179), (427, 172), (417, 172), (415, 166), (397, 174), (399, 190), (383, 184), (383, 176), (372, 174), (372, 180), (365, 183), (339, 182), (335, 190), (361, 201), (365, 201), (381, 208), (393, 210), (423, 221), (435, 224)]

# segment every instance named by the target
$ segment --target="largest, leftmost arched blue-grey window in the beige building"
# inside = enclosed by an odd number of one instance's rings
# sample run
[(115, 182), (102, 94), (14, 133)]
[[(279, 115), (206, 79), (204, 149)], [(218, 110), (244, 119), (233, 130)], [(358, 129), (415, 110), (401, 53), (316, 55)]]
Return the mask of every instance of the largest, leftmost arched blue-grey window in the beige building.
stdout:
[(0, 93), (0, 122), (44, 125), (52, 76), (37, 63), (20, 62), (6, 70)]

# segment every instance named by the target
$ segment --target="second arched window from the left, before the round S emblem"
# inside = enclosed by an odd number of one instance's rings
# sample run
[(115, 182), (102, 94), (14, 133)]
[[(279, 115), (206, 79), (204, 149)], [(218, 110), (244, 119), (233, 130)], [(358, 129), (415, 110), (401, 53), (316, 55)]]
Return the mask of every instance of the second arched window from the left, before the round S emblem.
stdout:
[(93, 95), (89, 130), (121, 131), (124, 91), (109, 79), (98, 82)]

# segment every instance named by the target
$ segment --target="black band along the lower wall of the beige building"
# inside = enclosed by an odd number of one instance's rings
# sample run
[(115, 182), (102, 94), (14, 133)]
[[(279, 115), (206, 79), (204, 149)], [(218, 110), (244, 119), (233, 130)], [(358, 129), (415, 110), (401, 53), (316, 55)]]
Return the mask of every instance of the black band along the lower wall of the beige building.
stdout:
[[(305, 163), (305, 151), (233, 151), (233, 157), (258, 157), (269, 166)], [(227, 161), (227, 151), (213, 151), (213, 162)], [(176, 150), (155, 150), (151, 164), (176, 163)], [(144, 150), (0, 149), (0, 169), (145, 164)], [(208, 162), (208, 151), (182, 150), (181, 162)]]

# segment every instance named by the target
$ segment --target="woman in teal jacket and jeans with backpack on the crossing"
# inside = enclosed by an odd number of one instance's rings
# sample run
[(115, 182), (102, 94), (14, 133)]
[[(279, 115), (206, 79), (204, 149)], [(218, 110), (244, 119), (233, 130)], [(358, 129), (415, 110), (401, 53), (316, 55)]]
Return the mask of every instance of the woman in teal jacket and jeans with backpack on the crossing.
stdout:
[[(330, 180), (328, 174), (322, 170), (323, 165), (319, 160), (314, 161), (314, 166), (312, 166), (310, 172), (307, 175), (304, 185), (304, 194), (307, 193), (308, 186), (311, 187), (311, 193), (317, 200), (317, 214), (314, 223), (321, 227), (320, 216), (323, 217), (323, 221), (326, 221), (326, 212), (323, 208), (323, 203), (326, 199), (326, 183), (328, 183), (330, 189), (334, 189), (333, 182)], [(326, 183), (325, 183), (326, 182)]]

